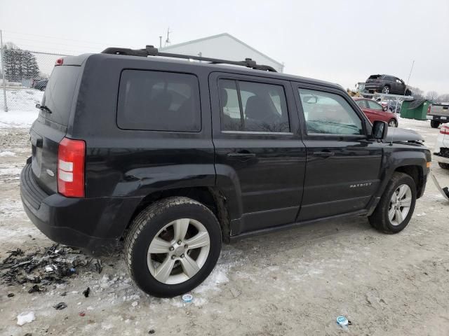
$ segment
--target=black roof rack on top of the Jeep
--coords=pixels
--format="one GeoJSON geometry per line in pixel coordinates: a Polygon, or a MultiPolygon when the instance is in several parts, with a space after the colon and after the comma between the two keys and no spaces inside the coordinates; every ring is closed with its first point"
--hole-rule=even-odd
{"type": "Polygon", "coordinates": [[[197,61],[209,62],[210,64],[232,64],[246,66],[247,68],[277,72],[272,66],[257,64],[253,59],[246,58],[244,61],[228,61],[226,59],[217,59],[193,55],[172,54],[170,52],[159,52],[153,45],[147,45],[145,49],[128,49],[128,48],[106,48],[102,54],[127,55],[127,56],[163,56],[183,59],[196,59],[197,61]]]}

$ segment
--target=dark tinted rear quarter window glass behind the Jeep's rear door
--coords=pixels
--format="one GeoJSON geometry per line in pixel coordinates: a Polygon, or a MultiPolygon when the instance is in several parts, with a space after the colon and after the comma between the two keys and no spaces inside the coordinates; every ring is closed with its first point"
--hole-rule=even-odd
{"type": "Polygon", "coordinates": [[[199,83],[194,75],[124,70],[117,124],[125,130],[199,132],[199,83]]]}

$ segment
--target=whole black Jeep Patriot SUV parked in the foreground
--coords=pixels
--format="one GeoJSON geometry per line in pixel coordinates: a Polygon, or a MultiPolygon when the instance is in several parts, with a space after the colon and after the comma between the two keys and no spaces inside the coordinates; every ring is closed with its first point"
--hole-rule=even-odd
{"type": "Polygon", "coordinates": [[[124,239],[130,276],[160,297],[198,286],[236,237],[342,216],[399,232],[429,174],[417,134],[387,135],[339,85],[251,59],[65,57],[37,107],[27,215],[90,253],[124,239]]]}

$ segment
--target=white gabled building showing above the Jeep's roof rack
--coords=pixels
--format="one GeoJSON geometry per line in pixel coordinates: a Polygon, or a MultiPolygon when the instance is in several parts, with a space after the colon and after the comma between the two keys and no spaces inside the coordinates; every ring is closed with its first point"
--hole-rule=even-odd
{"type": "Polygon", "coordinates": [[[250,45],[240,41],[227,33],[199,38],[197,40],[167,45],[159,48],[161,52],[172,52],[182,55],[195,55],[211,58],[243,61],[246,58],[253,59],[257,64],[274,67],[276,71],[283,72],[283,64],[272,59],[250,45]]]}

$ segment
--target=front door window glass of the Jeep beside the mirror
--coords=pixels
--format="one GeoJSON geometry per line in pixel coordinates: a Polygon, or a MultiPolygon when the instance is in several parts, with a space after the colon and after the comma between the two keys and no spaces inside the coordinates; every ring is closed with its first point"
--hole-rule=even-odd
{"type": "Polygon", "coordinates": [[[307,134],[361,135],[362,120],[340,95],[298,89],[307,134]]]}

